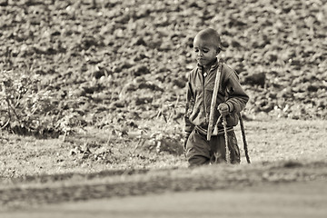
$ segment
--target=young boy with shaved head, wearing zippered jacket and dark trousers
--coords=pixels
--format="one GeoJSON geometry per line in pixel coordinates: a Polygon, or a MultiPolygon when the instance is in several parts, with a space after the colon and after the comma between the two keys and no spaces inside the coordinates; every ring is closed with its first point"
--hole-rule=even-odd
{"type": "Polygon", "coordinates": [[[214,29],[200,31],[194,37],[193,49],[197,66],[188,77],[184,115],[186,134],[184,149],[187,161],[190,166],[226,162],[224,129],[220,119],[218,131],[212,134],[210,141],[207,141],[214,82],[218,70],[221,70],[213,124],[217,123],[221,115],[225,116],[230,160],[231,163],[240,163],[240,150],[233,126],[238,124],[238,113],[245,107],[249,96],[244,93],[238,75],[233,69],[217,59],[222,45],[220,36],[214,29]]]}

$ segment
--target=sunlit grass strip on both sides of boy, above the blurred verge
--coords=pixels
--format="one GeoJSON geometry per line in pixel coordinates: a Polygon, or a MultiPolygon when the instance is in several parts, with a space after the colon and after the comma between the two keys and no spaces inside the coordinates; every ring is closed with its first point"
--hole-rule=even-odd
{"type": "MultiPolygon", "coordinates": [[[[253,163],[282,160],[319,161],[326,159],[327,122],[300,120],[245,121],[249,154],[253,163]]],[[[243,152],[239,127],[235,130],[243,152]]],[[[185,167],[181,152],[157,153],[154,146],[140,143],[139,135],[111,137],[106,130],[56,139],[2,134],[0,172],[5,180],[26,175],[95,173],[110,169],[185,167]],[[129,140],[123,140],[130,138],[129,140]]],[[[181,148],[182,142],[169,144],[181,148]]],[[[177,149],[180,151],[180,149],[177,149]]],[[[242,156],[242,164],[246,160],[242,156]]]]}

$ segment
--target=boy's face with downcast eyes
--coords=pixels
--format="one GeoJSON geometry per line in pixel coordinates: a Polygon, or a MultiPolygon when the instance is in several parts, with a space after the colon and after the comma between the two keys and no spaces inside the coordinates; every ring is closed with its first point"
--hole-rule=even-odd
{"type": "Polygon", "coordinates": [[[217,47],[210,40],[208,42],[197,36],[194,38],[193,48],[196,54],[196,61],[200,65],[211,64],[218,54],[217,47]]]}

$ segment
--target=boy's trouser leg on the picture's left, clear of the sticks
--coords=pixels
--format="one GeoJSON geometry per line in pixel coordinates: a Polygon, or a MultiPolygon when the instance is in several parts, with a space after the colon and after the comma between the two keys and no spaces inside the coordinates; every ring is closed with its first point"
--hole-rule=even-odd
{"type": "Polygon", "coordinates": [[[193,130],[187,139],[186,158],[190,166],[210,163],[210,145],[205,135],[193,130]]]}

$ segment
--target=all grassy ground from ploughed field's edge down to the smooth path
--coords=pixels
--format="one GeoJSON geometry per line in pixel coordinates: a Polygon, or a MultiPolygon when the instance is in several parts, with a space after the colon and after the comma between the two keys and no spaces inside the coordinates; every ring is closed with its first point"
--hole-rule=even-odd
{"type": "MultiPolygon", "coordinates": [[[[243,155],[240,165],[198,169],[187,169],[183,154],[146,150],[151,147],[141,146],[138,140],[119,144],[118,136],[108,140],[104,130],[58,139],[3,133],[0,203],[6,210],[113,196],[327,179],[325,121],[244,123],[252,164],[243,155]]],[[[241,131],[236,129],[236,133],[242,148],[241,131]]]]}

